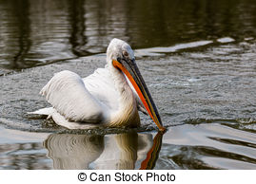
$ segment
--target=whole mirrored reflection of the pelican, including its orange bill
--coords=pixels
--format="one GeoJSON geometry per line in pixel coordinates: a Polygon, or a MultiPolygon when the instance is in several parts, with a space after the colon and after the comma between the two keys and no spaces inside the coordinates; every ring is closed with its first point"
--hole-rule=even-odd
{"type": "Polygon", "coordinates": [[[54,169],[152,169],[163,133],[52,134],[44,141],[54,169]],[[157,139],[157,140],[156,140],[157,139]]]}

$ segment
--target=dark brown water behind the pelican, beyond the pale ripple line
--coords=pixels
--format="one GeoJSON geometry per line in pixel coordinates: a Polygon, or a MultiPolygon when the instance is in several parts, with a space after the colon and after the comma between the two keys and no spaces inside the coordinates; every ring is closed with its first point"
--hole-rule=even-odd
{"type": "Polygon", "coordinates": [[[255,11],[249,0],[1,0],[0,68],[105,52],[113,37],[133,48],[255,37],[255,11]]]}

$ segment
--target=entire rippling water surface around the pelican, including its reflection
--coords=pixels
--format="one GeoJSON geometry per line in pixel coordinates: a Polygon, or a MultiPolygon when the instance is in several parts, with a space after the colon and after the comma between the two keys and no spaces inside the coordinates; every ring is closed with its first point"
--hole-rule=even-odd
{"type": "Polygon", "coordinates": [[[256,169],[256,1],[0,0],[1,169],[256,169]],[[69,131],[26,113],[53,73],[126,40],[167,133],[69,131]]]}

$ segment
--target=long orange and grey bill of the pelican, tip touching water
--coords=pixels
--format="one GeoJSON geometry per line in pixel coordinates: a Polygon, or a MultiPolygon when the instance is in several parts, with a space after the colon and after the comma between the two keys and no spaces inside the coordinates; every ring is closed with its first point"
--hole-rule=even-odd
{"type": "Polygon", "coordinates": [[[114,67],[119,68],[128,77],[128,80],[133,85],[139,98],[143,102],[145,108],[148,111],[148,115],[156,123],[160,131],[165,131],[166,128],[163,126],[160,116],[158,114],[157,108],[151,95],[148,91],[148,87],[142,78],[139,68],[134,60],[118,59],[118,61],[113,60],[112,64],[114,67]]]}

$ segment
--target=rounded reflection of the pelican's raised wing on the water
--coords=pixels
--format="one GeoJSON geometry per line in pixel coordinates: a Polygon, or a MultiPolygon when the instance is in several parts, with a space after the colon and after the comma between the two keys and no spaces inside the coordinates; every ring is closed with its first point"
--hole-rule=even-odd
{"type": "Polygon", "coordinates": [[[52,134],[44,142],[54,169],[88,169],[104,150],[103,136],[52,134]]]}

